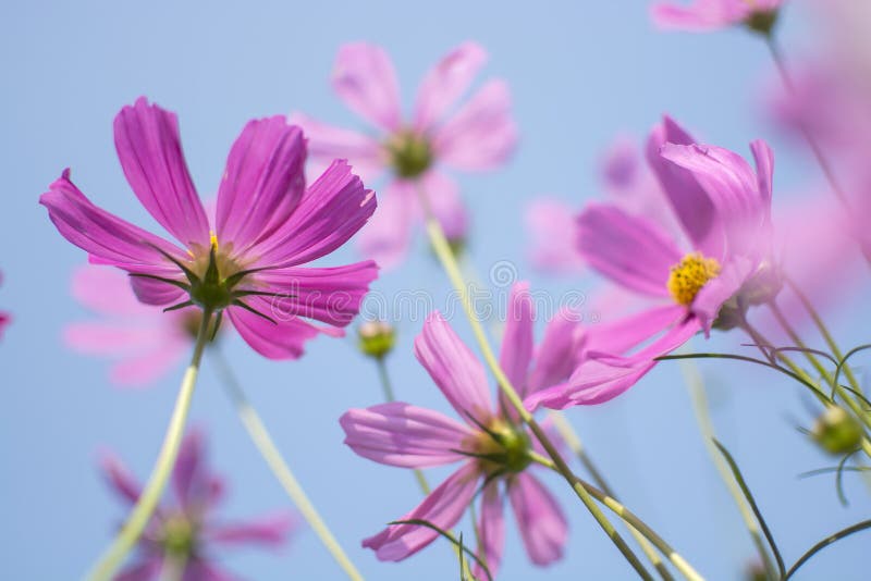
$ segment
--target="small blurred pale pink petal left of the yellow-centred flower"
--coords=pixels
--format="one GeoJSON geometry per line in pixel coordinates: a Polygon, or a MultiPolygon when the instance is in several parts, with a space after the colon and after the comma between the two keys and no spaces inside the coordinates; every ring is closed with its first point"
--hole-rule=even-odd
{"type": "Polygon", "coordinates": [[[575,210],[567,203],[541,198],[526,209],[529,261],[548,274],[577,274],[584,270],[575,238],[575,210]]]}

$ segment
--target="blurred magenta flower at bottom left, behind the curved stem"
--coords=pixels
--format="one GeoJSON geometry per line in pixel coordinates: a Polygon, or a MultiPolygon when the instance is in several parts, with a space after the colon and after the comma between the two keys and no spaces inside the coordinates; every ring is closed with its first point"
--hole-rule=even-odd
{"type": "MultiPolygon", "coordinates": [[[[112,455],[105,455],[101,465],[112,489],[133,506],[140,494],[138,482],[112,455]]],[[[115,580],[165,579],[173,568],[183,567],[179,577],[183,581],[230,581],[237,578],[219,566],[216,555],[242,545],[274,548],[286,541],[295,526],[295,519],[287,514],[238,523],[217,520],[214,510],[223,493],[223,480],[206,465],[203,435],[189,432],[172,472],[174,502],[158,507],[139,539],[133,564],[115,580]]]]}

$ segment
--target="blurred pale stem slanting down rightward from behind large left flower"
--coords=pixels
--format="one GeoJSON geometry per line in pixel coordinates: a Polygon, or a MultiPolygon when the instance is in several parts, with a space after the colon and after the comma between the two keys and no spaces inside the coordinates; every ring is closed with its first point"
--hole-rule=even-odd
{"type": "Polygon", "coordinates": [[[335,536],[333,536],[332,532],[330,532],[327,523],[323,522],[323,519],[318,514],[315,505],[312,505],[311,500],[308,499],[303,486],[296,480],[296,477],[294,477],[293,472],[291,471],[291,467],[287,466],[286,461],[284,461],[281,452],[279,452],[275,443],[269,435],[269,432],[267,431],[263,421],[260,419],[260,416],[257,413],[257,410],[254,409],[247,397],[245,397],[245,392],[243,392],[242,386],[233,373],[233,370],[224,359],[220,347],[216,346],[213,351],[216,354],[214,361],[220,368],[219,374],[223,380],[221,383],[223,384],[226,394],[230,396],[230,399],[232,399],[240,420],[242,420],[243,425],[248,431],[248,435],[254,442],[254,445],[257,446],[257,449],[260,452],[260,455],[266,460],[266,463],[269,466],[270,470],[272,470],[275,479],[278,479],[279,483],[284,489],[284,492],[287,493],[287,496],[290,496],[293,504],[303,515],[303,518],[306,519],[306,522],[308,522],[309,527],[311,527],[311,530],[315,531],[315,534],[318,535],[320,542],[324,547],[327,547],[327,551],[330,552],[330,555],[333,557],[339,567],[342,568],[348,579],[354,581],[363,581],[363,576],[342,549],[342,546],[335,540],[335,536]]]}

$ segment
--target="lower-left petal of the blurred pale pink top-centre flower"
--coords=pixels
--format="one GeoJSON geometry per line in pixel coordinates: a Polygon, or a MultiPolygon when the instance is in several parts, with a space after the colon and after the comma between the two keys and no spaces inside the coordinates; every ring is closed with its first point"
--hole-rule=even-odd
{"type": "Polygon", "coordinates": [[[379,194],[378,211],[360,232],[360,252],[382,269],[396,267],[408,252],[412,225],[420,218],[414,187],[404,180],[390,182],[379,194]]]}

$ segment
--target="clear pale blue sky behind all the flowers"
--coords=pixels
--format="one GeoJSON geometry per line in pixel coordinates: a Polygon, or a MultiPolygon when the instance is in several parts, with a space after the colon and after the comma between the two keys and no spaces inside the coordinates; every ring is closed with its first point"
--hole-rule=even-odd
{"type": "MultiPolygon", "coordinates": [[[[471,257],[482,273],[512,261],[535,288],[555,295],[589,289],[591,282],[531,270],[519,235],[526,205],[549,194],[579,207],[600,195],[596,166],[602,149],[617,134],[642,136],[663,112],[741,153],[752,138],[770,138],[781,199],[819,180],[800,149],[778,139],[760,118],[761,84],[772,74],[763,46],[738,30],[658,33],[641,0],[216,4],[25,2],[0,9],[0,307],[15,317],[0,344],[0,547],[10,579],[69,579],[85,571],[123,516],[95,469],[97,452],[115,450],[145,478],[181,378],[177,369],[150,388],[121,391],[109,385],[105,361],[64,348],[63,325],[87,317],[69,294],[70,275],[84,255],[57,234],[37,203],[70,166],[95,202],[155,225],[124,182],[112,145],[112,118],[139,95],[179,113],[194,181],[207,195],[216,190],[230,145],[248,119],[298,110],[358,126],[328,84],[342,42],[384,46],[410,98],[436,59],[475,39],[490,52],[487,74],[512,87],[522,141],[503,171],[459,178],[474,215],[471,257]]],[[[787,50],[807,46],[809,27],[799,10],[787,12],[787,50]]],[[[331,262],[353,258],[348,248],[331,262]]],[[[422,245],[375,288],[388,296],[427,289],[436,304],[449,292],[422,245]]],[[[844,312],[834,317],[837,329],[858,342],[859,322],[844,312]]],[[[389,361],[396,391],[402,399],[446,409],[410,354],[420,323],[400,323],[400,344],[389,361]]],[[[455,318],[455,325],[469,337],[464,321],[455,318]]],[[[338,417],[380,397],[375,368],[356,355],[353,341],[320,338],[305,358],[282,363],[259,358],[235,337],[226,349],[303,484],[367,577],[455,574],[444,546],[401,565],[378,563],[359,547],[360,539],[412,508],[419,494],[410,474],[363,460],[342,444],[338,417]]],[[[847,480],[854,503],[845,509],[831,479],[796,478],[833,462],[795,431],[810,417],[794,385],[738,364],[704,371],[721,437],[787,560],[867,515],[871,503],[858,479],[847,480]]],[[[706,456],[676,366],[661,366],[617,400],[569,410],[568,417],[627,505],[710,578],[740,577],[752,548],[706,456]]],[[[208,357],[192,422],[208,431],[211,459],[228,474],[229,517],[286,506],[208,357]]],[[[432,480],[441,475],[437,470],[432,480]]],[[[567,557],[549,571],[535,569],[510,523],[502,578],[630,579],[566,487],[556,478],[548,483],[569,515],[567,557]]],[[[823,553],[799,578],[838,571],[839,579],[859,579],[862,542],[855,537],[823,553]]],[[[225,563],[249,579],[340,579],[306,530],[280,554],[243,551],[226,555],[225,563]]]]}

